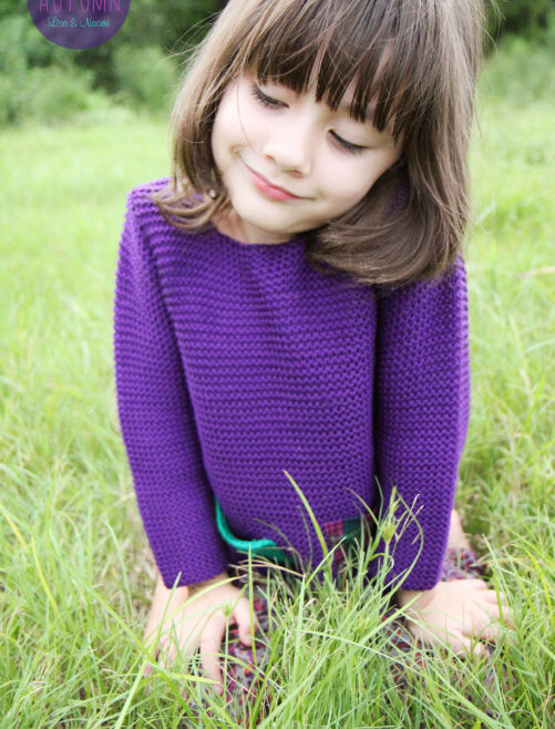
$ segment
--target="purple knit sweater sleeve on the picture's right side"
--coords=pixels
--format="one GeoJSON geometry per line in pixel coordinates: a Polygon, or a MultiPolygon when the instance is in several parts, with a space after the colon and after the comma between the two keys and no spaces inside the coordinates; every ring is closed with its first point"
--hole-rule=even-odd
{"type": "Polygon", "coordinates": [[[430,589],[440,577],[469,423],[463,259],[440,279],[404,286],[381,297],[378,306],[376,471],[384,507],[395,486],[404,502],[395,518],[409,506],[421,527],[411,518],[397,521],[388,579],[404,575],[415,561],[402,586],[430,589]]]}

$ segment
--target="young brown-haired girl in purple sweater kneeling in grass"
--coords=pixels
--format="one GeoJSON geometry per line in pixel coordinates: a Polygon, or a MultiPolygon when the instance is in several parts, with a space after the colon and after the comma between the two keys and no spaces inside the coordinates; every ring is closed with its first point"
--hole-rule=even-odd
{"type": "Polygon", "coordinates": [[[330,546],[397,494],[414,637],[484,651],[508,618],[467,553],[453,567],[480,29],[479,0],[230,0],[176,99],[172,178],[129,195],[114,352],[160,569],[145,638],[168,663],[199,647],[219,692],[226,623],[244,646],[257,627],[230,565],[323,556],[292,482],[330,546]]]}

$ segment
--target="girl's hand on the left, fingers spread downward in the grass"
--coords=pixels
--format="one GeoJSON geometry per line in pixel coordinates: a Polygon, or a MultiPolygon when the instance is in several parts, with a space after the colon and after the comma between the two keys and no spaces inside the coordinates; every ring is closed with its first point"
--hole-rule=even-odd
{"type": "MultiPolygon", "coordinates": [[[[222,573],[198,585],[177,587],[171,598],[172,591],[164,585],[158,574],[143,635],[143,641],[152,648],[153,656],[161,658],[165,666],[173,661],[178,649],[192,656],[201,647],[204,675],[217,681],[214,690],[220,695],[224,687],[216,654],[220,651],[226,623],[236,623],[241,643],[251,645],[248,599],[241,597],[243,591],[229,582],[220,584],[228,578],[227,573],[222,573]],[[156,644],[154,641],[163,619],[160,641],[156,644]]],[[[256,630],[256,616],[254,618],[256,630]]],[[[153,666],[147,665],[144,672],[148,675],[152,670],[153,666]]]]}

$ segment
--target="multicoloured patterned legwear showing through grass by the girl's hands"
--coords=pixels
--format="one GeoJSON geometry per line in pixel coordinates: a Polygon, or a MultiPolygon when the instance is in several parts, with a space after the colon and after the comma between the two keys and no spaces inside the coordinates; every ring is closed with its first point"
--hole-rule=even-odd
{"type": "MultiPolygon", "coordinates": [[[[485,567],[477,564],[474,552],[461,547],[448,548],[443,559],[442,582],[482,578],[484,574],[485,567]]],[[[245,574],[238,573],[237,579],[238,585],[248,585],[248,577],[245,574]]],[[[256,613],[259,628],[255,635],[254,645],[251,647],[244,645],[239,640],[238,628],[230,626],[228,637],[222,646],[225,659],[220,661],[220,667],[224,672],[226,710],[239,726],[248,726],[249,708],[253,707],[257,699],[258,689],[263,682],[269,658],[268,635],[271,630],[271,618],[268,613],[266,595],[261,589],[261,585],[257,584],[257,582],[254,582],[253,608],[256,613]]],[[[417,664],[423,665],[428,654],[425,648],[419,645],[403,622],[398,619],[391,620],[388,619],[389,617],[390,613],[386,613],[382,622],[384,624],[383,629],[388,635],[388,653],[392,658],[391,672],[395,686],[400,690],[403,690],[409,682],[403,655],[411,653],[413,660],[415,659],[417,664]]],[[[493,653],[493,646],[487,645],[487,647],[490,653],[493,653]]],[[[492,664],[487,675],[492,686],[495,680],[495,671],[496,668],[492,664]]],[[[505,686],[508,686],[506,671],[505,686]]],[[[203,687],[204,692],[210,690],[203,687]]],[[[267,697],[264,697],[263,701],[259,702],[261,705],[258,712],[260,720],[264,717],[265,701],[267,700],[267,697]]],[[[203,706],[207,710],[207,702],[205,700],[203,701],[203,706]]],[[[196,715],[199,708],[191,697],[188,707],[194,715],[196,715]]],[[[209,711],[208,713],[210,715],[209,711]]],[[[203,726],[202,719],[198,717],[188,718],[182,723],[182,727],[194,726],[203,726]]]]}

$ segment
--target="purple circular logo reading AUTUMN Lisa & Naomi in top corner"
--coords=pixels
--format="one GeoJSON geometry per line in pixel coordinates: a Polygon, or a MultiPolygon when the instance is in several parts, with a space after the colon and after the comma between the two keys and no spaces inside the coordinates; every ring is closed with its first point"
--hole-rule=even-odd
{"type": "Polygon", "coordinates": [[[64,48],[102,45],[123,25],[131,0],[28,0],[31,20],[49,41],[64,48]]]}

